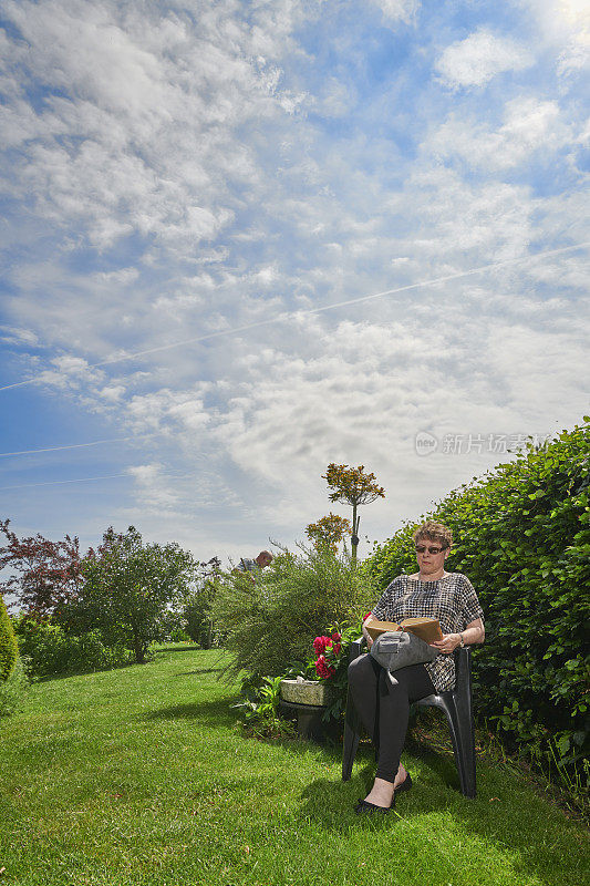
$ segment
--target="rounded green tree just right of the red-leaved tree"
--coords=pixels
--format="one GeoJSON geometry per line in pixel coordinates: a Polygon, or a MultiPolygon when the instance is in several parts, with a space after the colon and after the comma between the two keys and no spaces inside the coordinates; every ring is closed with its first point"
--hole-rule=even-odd
{"type": "Polygon", "coordinates": [[[188,595],[195,562],[175,543],[144,546],[134,526],[125,535],[111,527],[97,552],[85,557],[82,571],[85,580],[72,624],[77,631],[84,622],[99,628],[106,642],[123,642],[143,662],[166,612],[188,595]]]}

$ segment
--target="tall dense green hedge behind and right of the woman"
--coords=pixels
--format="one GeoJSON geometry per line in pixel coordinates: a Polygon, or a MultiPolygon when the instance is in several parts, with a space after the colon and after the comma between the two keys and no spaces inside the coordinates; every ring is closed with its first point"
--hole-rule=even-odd
{"type": "Polygon", "coordinates": [[[562,767],[589,750],[589,421],[452,492],[364,564],[383,589],[415,570],[416,525],[453,529],[446,568],[470,578],[485,612],[476,711],[522,754],[557,754],[562,767]]]}

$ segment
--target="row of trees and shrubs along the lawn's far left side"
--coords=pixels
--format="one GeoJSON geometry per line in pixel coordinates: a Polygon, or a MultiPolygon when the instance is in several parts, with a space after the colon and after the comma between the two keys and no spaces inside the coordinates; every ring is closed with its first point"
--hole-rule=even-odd
{"type": "Polygon", "coordinates": [[[12,627],[34,673],[143,662],[158,640],[211,643],[217,557],[199,562],[176,543],[146,544],[134,526],[108,527],[84,555],[77,537],[19,538],[9,519],[0,535],[8,574],[0,593],[17,599],[12,627]]]}

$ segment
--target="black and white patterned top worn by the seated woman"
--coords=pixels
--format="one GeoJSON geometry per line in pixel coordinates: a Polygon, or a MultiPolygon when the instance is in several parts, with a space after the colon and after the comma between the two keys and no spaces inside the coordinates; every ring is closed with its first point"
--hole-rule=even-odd
{"type": "MultiPolygon", "coordinates": [[[[448,573],[434,581],[398,575],[387,585],[372,615],[380,621],[396,622],[404,618],[437,618],[443,633],[459,633],[476,618],[484,619],[474,586],[462,573],[448,573]]],[[[441,652],[424,667],[437,692],[453,689],[455,660],[452,655],[441,652]]]]}

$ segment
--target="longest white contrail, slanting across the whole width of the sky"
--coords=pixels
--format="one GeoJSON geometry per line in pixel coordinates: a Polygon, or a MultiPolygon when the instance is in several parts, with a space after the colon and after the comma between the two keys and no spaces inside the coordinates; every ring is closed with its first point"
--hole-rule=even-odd
{"type": "MultiPolygon", "coordinates": [[[[360,305],[363,301],[371,301],[376,298],[383,298],[384,296],[394,296],[397,292],[407,292],[411,289],[420,289],[424,286],[436,286],[438,284],[448,282],[449,280],[459,280],[463,277],[470,277],[475,274],[483,274],[486,270],[491,270],[494,268],[501,268],[509,265],[517,265],[524,261],[535,261],[538,258],[547,258],[548,256],[557,256],[562,255],[563,253],[571,253],[575,249],[586,249],[590,246],[590,241],[587,243],[578,243],[573,246],[561,246],[558,249],[546,249],[541,253],[536,253],[535,255],[529,256],[520,256],[519,258],[506,258],[501,261],[493,261],[489,265],[480,265],[477,268],[470,268],[469,270],[462,270],[457,271],[456,274],[445,274],[442,277],[435,277],[428,280],[421,280],[417,284],[408,284],[407,286],[398,286],[395,289],[385,289],[383,292],[373,292],[369,296],[361,296],[360,298],[350,298],[345,299],[344,301],[335,301],[331,305],[324,305],[321,308],[308,308],[307,310],[300,311],[284,311],[282,313],[277,315],[276,317],[270,317],[266,320],[258,320],[255,323],[248,323],[246,326],[232,327],[231,329],[222,329],[219,332],[209,332],[206,336],[198,336],[192,339],[184,339],[183,341],[175,341],[170,344],[161,344],[156,348],[147,348],[143,351],[135,351],[134,353],[126,353],[122,354],[121,357],[113,357],[108,360],[101,360],[99,363],[89,363],[86,369],[96,369],[97,367],[106,367],[112,365],[113,363],[121,363],[124,360],[133,360],[137,357],[146,357],[147,354],[152,353],[162,353],[163,351],[170,351],[174,348],[183,348],[186,344],[197,344],[200,341],[210,341],[211,339],[221,338],[224,336],[232,336],[238,332],[247,332],[250,329],[258,329],[263,326],[271,326],[272,323],[280,323],[284,320],[296,319],[298,317],[306,317],[308,315],[313,313],[324,313],[325,311],[334,310],[334,308],[345,308],[349,305],[360,305]]],[[[20,388],[23,384],[32,384],[34,382],[41,381],[42,377],[37,375],[32,379],[27,379],[25,381],[19,381],[14,384],[7,384],[3,388],[0,388],[0,391],[9,391],[12,388],[20,388]]]]}

